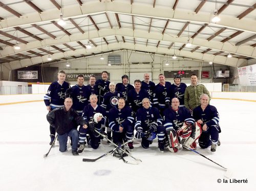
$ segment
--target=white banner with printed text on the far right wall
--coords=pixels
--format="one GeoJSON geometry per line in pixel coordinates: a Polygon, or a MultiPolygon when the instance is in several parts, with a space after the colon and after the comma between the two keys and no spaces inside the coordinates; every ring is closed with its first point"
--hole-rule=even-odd
{"type": "Polygon", "coordinates": [[[241,85],[256,86],[256,64],[238,68],[241,85]]]}

